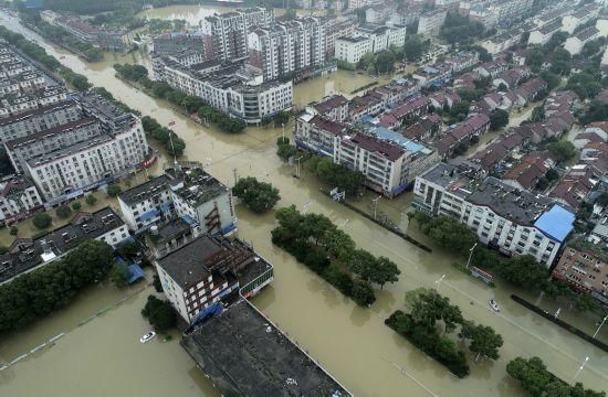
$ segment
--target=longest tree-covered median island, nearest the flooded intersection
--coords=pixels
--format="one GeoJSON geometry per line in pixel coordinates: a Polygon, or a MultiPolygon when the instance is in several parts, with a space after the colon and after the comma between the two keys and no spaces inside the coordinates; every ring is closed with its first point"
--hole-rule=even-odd
{"type": "Polygon", "coordinates": [[[276,212],[279,226],[272,243],[292,254],[300,262],[323,277],[357,304],[376,300],[371,283],[382,288],[396,282],[400,270],[386,257],[376,258],[345,232],[321,214],[301,214],[294,205],[276,212]]]}

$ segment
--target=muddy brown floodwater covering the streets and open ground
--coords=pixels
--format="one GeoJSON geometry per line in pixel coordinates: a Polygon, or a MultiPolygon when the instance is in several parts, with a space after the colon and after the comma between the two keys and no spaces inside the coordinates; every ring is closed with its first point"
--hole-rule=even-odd
{"type": "MultiPolygon", "coordinates": [[[[159,10],[154,10],[159,11],[159,10]]],[[[18,25],[14,19],[0,15],[1,23],[36,41],[42,41],[18,25]]],[[[281,129],[248,128],[242,135],[227,135],[214,128],[201,128],[172,110],[164,100],[156,100],[129,87],[114,76],[116,62],[143,64],[141,55],[124,60],[106,60],[86,64],[76,56],[49,44],[41,43],[61,62],[84,74],[91,83],[103,86],[117,99],[138,109],[143,115],[171,127],[187,142],[185,158],[198,160],[216,178],[232,185],[234,175],[253,175],[272,182],[281,191],[277,206],[295,204],[302,210],[308,201],[311,212],[323,213],[343,225],[358,247],[375,255],[384,255],[398,264],[399,282],[377,291],[378,300],[370,309],[356,307],[316,275],[297,264],[292,256],[274,247],[270,230],[274,215],[254,215],[238,207],[239,236],[274,264],[275,280],[253,303],[277,325],[298,341],[310,354],[356,396],[501,396],[522,395],[521,389],[506,375],[506,363],[518,356],[538,355],[548,368],[560,378],[573,382],[580,363],[589,361],[577,380],[587,387],[608,389],[608,355],[573,334],[531,313],[510,299],[513,291],[505,286],[492,289],[451,267],[454,258],[441,249],[432,254],[422,251],[400,237],[388,233],[343,205],[332,202],[321,191],[313,175],[306,173],[294,179],[293,168],[275,154],[275,140],[281,129]],[[346,222],[347,221],[347,222],[346,222]],[[491,325],[502,334],[504,346],[496,362],[470,360],[471,375],[458,379],[430,360],[418,348],[384,325],[384,320],[396,309],[403,308],[406,291],[434,288],[436,280],[445,275],[439,292],[459,304],[463,315],[475,322],[491,325]],[[502,312],[488,308],[496,299],[502,312]]],[[[294,88],[296,106],[318,99],[333,90],[345,94],[371,81],[370,77],[338,72],[326,77],[305,82],[294,88]]],[[[291,132],[290,132],[291,135],[291,132]]],[[[167,161],[161,157],[160,161],[167,161]]],[[[410,194],[410,193],[408,193],[410,194]]],[[[396,201],[381,200],[391,215],[407,211],[408,194],[396,201]],[[384,203],[386,202],[386,203],[384,203]]],[[[365,205],[365,204],[363,204],[365,205]]],[[[406,221],[407,223],[407,217],[406,221]]],[[[410,227],[415,238],[418,227],[410,227]]],[[[429,244],[432,247],[432,244],[429,244]]],[[[122,305],[112,309],[85,325],[77,326],[111,302],[129,291],[117,291],[111,286],[94,287],[62,312],[41,320],[19,335],[0,341],[0,361],[7,362],[57,334],[66,332],[48,352],[36,353],[0,373],[1,396],[216,396],[202,372],[178,345],[177,339],[168,343],[156,340],[140,344],[138,337],[149,325],[140,309],[151,289],[136,294],[122,305]]],[[[593,321],[566,309],[565,319],[587,332],[594,332],[593,321]]],[[[608,341],[608,326],[598,335],[608,341]]]]}

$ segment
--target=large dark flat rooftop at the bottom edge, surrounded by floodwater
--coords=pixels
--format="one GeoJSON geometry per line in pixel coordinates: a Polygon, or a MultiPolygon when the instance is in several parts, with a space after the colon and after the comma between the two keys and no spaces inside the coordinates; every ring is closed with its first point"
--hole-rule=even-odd
{"type": "Polygon", "coordinates": [[[223,396],[350,396],[244,299],[181,346],[223,396]]]}

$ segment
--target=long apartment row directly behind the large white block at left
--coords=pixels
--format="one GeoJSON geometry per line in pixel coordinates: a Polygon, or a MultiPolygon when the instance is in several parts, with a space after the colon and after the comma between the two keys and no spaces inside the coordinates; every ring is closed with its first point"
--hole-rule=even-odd
{"type": "Polygon", "coordinates": [[[27,137],[7,141],[4,148],[14,170],[18,173],[24,173],[28,160],[67,148],[72,144],[92,140],[102,133],[102,124],[95,118],[85,117],[27,137]]]}

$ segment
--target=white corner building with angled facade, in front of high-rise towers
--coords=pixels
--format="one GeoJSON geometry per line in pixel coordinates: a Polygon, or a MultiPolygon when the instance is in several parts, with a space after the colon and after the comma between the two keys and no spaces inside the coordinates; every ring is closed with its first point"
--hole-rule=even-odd
{"type": "Polygon", "coordinates": [[[157,66],[155,75],[248,124],[260,124],[262,118],[292,107],[291,81],[264,83],[262,72],[253,66],[214,64],[201,72],[198,65],[186,68],[177,63],[164,63],[157,66]]]}

